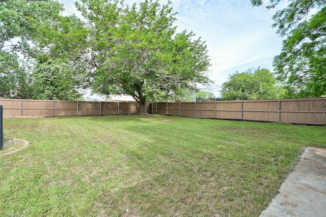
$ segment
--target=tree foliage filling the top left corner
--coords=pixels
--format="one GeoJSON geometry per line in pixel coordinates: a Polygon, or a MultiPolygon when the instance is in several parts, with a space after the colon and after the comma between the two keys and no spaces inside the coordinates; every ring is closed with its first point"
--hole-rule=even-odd
{"type": "Polygon", "coordinates": [[[59,15],[63,7],[52,0],[4,0],[0,3],[0,50],[5,42],[11,42],[14,51],[28,56],[30,44],[38,36],[35,25],[42,25],[59,15]],[[17,43],[13,43],[13,39],[17,43]],[[30,43],[29,43],[30,42],[30,43]]]}

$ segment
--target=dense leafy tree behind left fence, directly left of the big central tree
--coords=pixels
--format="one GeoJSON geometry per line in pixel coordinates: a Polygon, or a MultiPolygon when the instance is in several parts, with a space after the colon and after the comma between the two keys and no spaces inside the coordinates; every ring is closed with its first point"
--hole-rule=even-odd
{"type": "Polygon", "coordinates": [[[82,86],[87,61],[88,29],[75,15],[58,16],[35,25],[39,35],[35,40],[35,67],[32,78],[33,99],[76,100],[82,86]]]}

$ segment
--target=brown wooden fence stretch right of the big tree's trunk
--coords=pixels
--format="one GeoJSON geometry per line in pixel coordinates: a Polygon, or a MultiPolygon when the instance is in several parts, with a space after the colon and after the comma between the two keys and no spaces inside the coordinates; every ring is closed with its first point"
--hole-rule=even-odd
{"type": "Polygon", "coordinates": [[[326,99],[152,103],[152,114],[326,125],[326,99]]]}

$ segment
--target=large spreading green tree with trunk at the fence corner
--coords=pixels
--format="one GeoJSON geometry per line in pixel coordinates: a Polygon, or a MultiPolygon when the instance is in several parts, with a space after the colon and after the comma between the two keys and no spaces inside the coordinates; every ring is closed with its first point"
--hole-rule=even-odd
{"type": "Polygon", "coordinates": [[[98,94],[130,95],[144,115],[152,99],[210,82],[205,42],[194,40],[192,32],[176,33],[171,2],[80,2],[76,6],[92,29],[88,75],[98,94]]]}

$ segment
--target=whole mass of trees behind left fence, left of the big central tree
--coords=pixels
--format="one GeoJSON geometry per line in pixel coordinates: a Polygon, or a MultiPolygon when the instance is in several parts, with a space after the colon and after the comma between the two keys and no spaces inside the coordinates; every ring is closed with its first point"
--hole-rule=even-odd
{"type": "Polygon", "coordinates": [[[0,2],[1,97],[78,98],[76,81],[82,79],[76,72],[84,67],[88,29],[63,10],[54,0],[0,2]]]}

